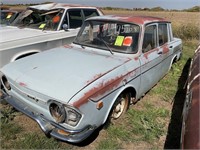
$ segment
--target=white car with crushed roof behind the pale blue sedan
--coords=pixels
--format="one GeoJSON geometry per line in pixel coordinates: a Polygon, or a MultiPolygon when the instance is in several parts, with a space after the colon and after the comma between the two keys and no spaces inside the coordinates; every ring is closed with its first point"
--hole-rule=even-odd
{"type": "Polygon", "coordinates": [[[71,43],[83,21],[98,15],[103,15],[100,9],[81,5],[49,3],[27,7],[12,24],[0,27],[0,68],[22,57],[71,43]]]}

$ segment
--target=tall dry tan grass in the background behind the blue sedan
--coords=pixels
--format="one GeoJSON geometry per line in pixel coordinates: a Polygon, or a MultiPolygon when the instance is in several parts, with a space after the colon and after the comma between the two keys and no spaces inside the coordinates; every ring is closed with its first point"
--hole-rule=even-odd
{"type": "Polygon", "coordinates": [[[175,37],[183,40],[199,40],[200,37],[200,13],[199,12],[152,12],[152,11],[128,11],[128,10],[104,10],[107,14],[132,15],[132,16],[154,16],[165,18],[172,22],[175,37]]]}

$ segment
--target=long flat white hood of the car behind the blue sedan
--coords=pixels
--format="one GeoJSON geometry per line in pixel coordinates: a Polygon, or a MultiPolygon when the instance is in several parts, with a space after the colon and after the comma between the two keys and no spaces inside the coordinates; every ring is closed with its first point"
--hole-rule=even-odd
{"type": "Polygon", "coordinates": [[[0,27],[0,35],[3,35],[0,36],[0,51],[54,40],[75,38],[78,30],[78,28],[70,29],[66,32],[64,30],[42,31],[30,28],[20,29],[13,26],[0,27]]]}

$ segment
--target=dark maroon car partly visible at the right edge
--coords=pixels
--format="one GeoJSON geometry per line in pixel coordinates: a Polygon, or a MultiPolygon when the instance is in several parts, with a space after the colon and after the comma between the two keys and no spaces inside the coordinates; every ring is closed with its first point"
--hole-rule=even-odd
{"type": "Polygon", "coordinates": [[[200,46],[191,61],[183,108],[181,149],[200,149],[200,46]]]}

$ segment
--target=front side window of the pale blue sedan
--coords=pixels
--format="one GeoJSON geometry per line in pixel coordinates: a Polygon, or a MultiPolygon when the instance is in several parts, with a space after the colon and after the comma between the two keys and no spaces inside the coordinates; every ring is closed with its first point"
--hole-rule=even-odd
{"type": "Polygon", "coordinates": [[[156,25],[150,25],[145,28],[143,45],[142,45],[142,52],[148,52],[151,49],[157,47],[157,34],[156,34],[156,25]]]}

